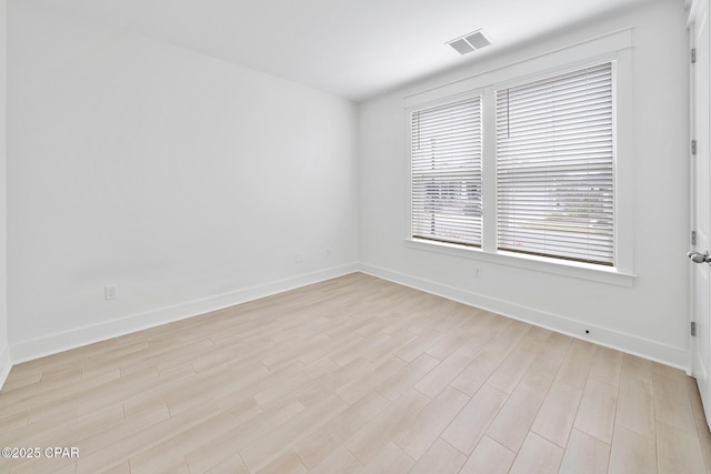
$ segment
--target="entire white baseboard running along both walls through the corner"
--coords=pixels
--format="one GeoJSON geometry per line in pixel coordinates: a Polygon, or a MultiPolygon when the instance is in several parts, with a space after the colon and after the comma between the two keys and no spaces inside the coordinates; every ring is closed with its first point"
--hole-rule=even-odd
{"type": "Polygon", "coordinates": [[[0,387],[10,373],[13,363],[31,361],[136,331],[197,316],[357,271],[550,329],[572,337],[639,355],[651,361],[681,369],[689,374],[691,373],[691,367],[689,366],[690,354],[689,351],[684,349],[673,347],[632,334],[582,323],[565,316],[547,313],[375,265],[351,263],[12,344],[11,347],[7,347],[0,353],[0,387]],[[584,336],[585,329],[590,330],[590,336],[584,336]],[[10,352],[12,353],[12,357],[10,357],[10,352]]]}

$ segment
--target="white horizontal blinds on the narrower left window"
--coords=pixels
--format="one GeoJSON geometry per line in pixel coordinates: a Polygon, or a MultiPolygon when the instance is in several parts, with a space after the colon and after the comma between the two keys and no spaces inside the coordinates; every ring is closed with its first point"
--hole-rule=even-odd
{"type": "Polygon", "coordinates": [[[481,98],[411,118],[412,236],[481,245],[481,98]]]}

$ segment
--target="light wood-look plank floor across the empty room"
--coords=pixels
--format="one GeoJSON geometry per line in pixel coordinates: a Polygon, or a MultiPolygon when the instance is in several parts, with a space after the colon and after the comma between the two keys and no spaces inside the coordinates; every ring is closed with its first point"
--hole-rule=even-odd
{"type": "Polygon", "coordinates": [[[356,273],[12,369],[13,473],[703,473],[681,371],[356,273]]]}

